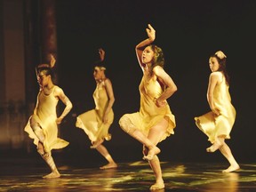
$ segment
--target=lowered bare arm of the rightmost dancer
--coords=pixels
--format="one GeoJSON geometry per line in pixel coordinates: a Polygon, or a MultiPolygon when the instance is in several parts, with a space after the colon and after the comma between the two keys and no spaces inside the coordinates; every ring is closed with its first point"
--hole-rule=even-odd
{"type": "Polygon", "coordinates": [[[211,108],[212,112],[216,115],[219,115],[219,111],[217,108],[215,108],[213,103],[213,91],[215,86],[218,84],[218,79],[219,79],[218,73],[213,72],[209,77],[209,84],[207,89],[207,101],[208,101],[209,107],[211,108]]]}

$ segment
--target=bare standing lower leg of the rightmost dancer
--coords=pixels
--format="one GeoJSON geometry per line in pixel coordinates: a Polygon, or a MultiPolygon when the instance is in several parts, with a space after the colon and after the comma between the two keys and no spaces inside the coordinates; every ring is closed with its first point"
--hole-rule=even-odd
{"type": "Polygon", "coordinates": [[[220,152],[228,159],[228,162],[230,164],[228,169],[223,170],[222,172],[235,172],[236,170],[240,169],[239,164],[237,164],[236,159],[232,155],[232,152],[225,141],[224,144],[220,147],[220,152]]]}

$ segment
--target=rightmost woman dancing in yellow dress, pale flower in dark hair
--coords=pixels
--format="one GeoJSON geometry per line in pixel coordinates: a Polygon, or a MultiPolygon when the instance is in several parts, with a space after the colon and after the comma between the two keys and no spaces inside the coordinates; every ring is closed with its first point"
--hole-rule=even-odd
{"type": "Polygon", "coordinates": [[[235,123],[236,109],[231,104],[229,94],[229,77],[226,70],[226,55],[219,51],[215,52],[210,59],[209,65],[212,71],[209,77],[207,100],[212,111],[203,116],[196,116],[197,127],[208,136],[212,143],[207,152],[213,153],[217,149],[228,159],[230,166],[222,172],[234,172],[240,167],[236,163],[225,140],[230,139],[230,132],[235,123]]]}

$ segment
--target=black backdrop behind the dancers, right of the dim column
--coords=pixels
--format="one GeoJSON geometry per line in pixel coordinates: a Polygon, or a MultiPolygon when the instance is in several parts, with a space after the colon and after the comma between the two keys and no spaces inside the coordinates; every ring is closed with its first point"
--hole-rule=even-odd
{"type": "Polygon", "coordinates": [[[237,112],[227,143],[238,163],[255,161],[256,1],[57,0],[56,8],[58,84],[74,104],[61,126],[61,137],[70,142],[64,154],[101,159],[75,123],[76,115],[94,108],[92,63],[103,47],[116,97],[115,121],[109,130],[113,139],[104,144],[116,162],[141,160],[141,144],[120,129],[118,120],[140,108],[142,72],[134,48],[147,38],[150,23],[156,29],[155,44],[164,51],[164,68],[178,86],[168,99],[177,127],[159,144],[160,160],[226,161],[219,151],[205,152],[211,143],[194,121],[194,116],[209,111],[208,59],[221,50],[228,56],[230,94],[237,112]]]}

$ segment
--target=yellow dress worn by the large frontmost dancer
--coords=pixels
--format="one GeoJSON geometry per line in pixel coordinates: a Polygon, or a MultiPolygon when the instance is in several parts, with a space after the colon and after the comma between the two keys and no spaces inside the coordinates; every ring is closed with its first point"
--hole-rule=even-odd
{"type": "Polygon", "coordinates": [[[156,106],[155,100],[163,93],[161,85],[157,80],[144,75],[140,81],[140,111],[132,114],[125,114],[129,118],[129,124],[143,132],[148,136],[149,130],[156,124],[158,124],[163,118],[168,121],[168,127],[165,134],[159,140],[165,140],[166,137],[174,134],[173,129],[176,127],[175,116],[172,115],[172,111],[166,101],[166,105],[163,108],[156,106]]]}

